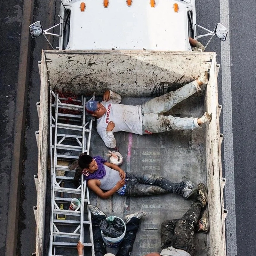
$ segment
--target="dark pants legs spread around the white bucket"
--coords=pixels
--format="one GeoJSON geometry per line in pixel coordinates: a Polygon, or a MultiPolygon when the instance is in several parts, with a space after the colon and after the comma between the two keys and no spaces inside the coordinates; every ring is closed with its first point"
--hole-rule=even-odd
{"type": "MultiPolygon", "coordinates": [[[[103,256],[107,253],[99,227],[100,221],[105,218],[106,216],[104,215],[92,215],[92,232],[95,256],[103,256]]],[[[131,220],[126,224],[126,233],[124,236],[124,240],[120,244],[120,248],[116,256],[128,256],[131,254],[133,243],[139,229],[139,223],[140,219],[131,218],[131,220]]]]}

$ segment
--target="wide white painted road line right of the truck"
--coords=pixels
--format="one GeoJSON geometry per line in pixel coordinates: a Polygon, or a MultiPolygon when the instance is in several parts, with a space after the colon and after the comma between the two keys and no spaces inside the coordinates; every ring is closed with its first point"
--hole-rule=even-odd
{"type": "MultiPolygon", "coordinates": [[[[220,0],[220,22],[229,31],[228,0],[220,0]]],[[[225,208],[228,210],[226,218],[226,245],[227,256],[236,256],[236,204],[230,66],[232,66],[232,63],[230,61],[230,41],[228,33],[226,41],[221,43],[224,163],[225,178],[227,180],[225,186],[225,208]]]]}

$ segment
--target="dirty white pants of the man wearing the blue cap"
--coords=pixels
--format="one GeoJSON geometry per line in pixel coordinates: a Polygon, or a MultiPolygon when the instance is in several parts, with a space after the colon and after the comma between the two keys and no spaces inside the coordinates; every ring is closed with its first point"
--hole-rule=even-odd
{"type": "Polygon", "coordinates": [[[166,132],[173,129],[185,130],[200,128],[197,124],[197,119],[194,117],[174,117],[159,115],[179,103],[182,100],[187,99],[189,96],[200,90],[196,81],[186,84],[174,92],[166,93],[162,96],[148,100],[141,105],[142,109],[142,125],[143,133],[157,133],[166,132]],[[146,132],[145,132],[146,131],[146,132]]]}

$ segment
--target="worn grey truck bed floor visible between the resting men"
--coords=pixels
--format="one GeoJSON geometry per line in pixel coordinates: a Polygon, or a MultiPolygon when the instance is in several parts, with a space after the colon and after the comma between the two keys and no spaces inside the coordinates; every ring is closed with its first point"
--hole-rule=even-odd
{"type": "MultiPolygon", "coordinates": [[[[141,104],[147,99],[127,98],[124,104],[141,104]]],[[[190,97],[172,109],[177,116],[202,116],[203,99],[190,97]]],[[[206,183],[206,153],[204,128],[193,131],[171,131],[152,135],[136,135],[126,132],[115,133],[119,152],[124,157],[121,168],[127,172],[156,173],[173,182],[191,180],[195,184],[206,183]]],[[[91,155],[100,155],[108,160],[108,148],[104,145],[93,124],[91,155]]],[[[180,218],[190,207],[191,200],[176,194],[145,197],[114,195],[101,199],[91,192],[91,203],[97,205],[107,216],[124,217],[138,211],[147,212],[133,246],[133,256],[149,252],[161,252],[160,225],[164,220],[180,218]]],[[[196,235],[196,256],[208,255],[207,235],[196,235]]],[[[115,252],[108,248],[108,252],[115,252]]]]}

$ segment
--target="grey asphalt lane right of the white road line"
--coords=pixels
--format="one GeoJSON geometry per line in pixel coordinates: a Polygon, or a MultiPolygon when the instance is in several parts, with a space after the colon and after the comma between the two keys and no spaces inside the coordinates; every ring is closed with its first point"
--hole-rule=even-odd
{"type": "Polygon", "coordinates": [[[255,2],[232,1],[231,84],[237,255],[255,255],[255,2]]]}

